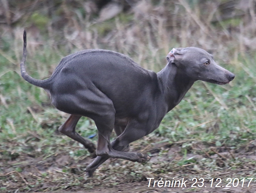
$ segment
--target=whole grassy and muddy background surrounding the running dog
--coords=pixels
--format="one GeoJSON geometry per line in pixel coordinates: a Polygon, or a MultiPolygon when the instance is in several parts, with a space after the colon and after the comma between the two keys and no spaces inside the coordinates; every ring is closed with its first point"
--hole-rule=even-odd
{"type": "MultiPolygon", "coordinates": [[[[133,192],[148,190],[149,177],[255,177],[255,35],[254,0],[1,0],[0,192],[133,192]],[[91,48],[124,53],[157,72],[173,47],[203,48],[236,78],[223,86],[196,82],[159,129],[132,143],[131,151],[151,156],[148,163],[110,159],[87,178],[90,154],[56,132],[68,114],[20,76],[24,28],[27,71],[37,79],[49,77],[64,56],[91,48]]],[[[77,131],[97,134],[88,118],[77,131]]],[[[227,190],[250,192],[251,184],[227,190]]]]}

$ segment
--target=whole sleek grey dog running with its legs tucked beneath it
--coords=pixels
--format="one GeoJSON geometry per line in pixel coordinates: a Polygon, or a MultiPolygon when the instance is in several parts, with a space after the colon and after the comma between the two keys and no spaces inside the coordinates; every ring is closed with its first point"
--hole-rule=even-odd
{"type": "Polygon", "coordinates": [[[147,161],[147,155],[127,152],[129,143],[157,129],[195,81],[224,85],[235,78],[208,52],[187,47],[173,48],[167,65],[158,73],[143,69],[123,54],[96,49],[66,56],[49,79],[36,80],[25,70],[25,30],[23,37],[22,77],[44,88],[57,109],[71,114],[59,132],[93,153],[94,144],[75,132],[75,126],[81,116],[93,119],[97,126],[97,157],[86,168],[89,176],[109,157],[147,161]],[[110,143],[113,129],[118,137],[110,143]]]}

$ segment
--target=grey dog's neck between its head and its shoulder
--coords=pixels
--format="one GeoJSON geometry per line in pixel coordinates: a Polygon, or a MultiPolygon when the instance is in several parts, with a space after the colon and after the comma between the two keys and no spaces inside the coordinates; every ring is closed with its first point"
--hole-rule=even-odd
{"type": "Polygon", "coordinates": [[[157,73],[159,85],[168,105],[168,112],[179,104],[187,91],[194,84],[184,71],[175,64],[168,63],[157,73]]]}

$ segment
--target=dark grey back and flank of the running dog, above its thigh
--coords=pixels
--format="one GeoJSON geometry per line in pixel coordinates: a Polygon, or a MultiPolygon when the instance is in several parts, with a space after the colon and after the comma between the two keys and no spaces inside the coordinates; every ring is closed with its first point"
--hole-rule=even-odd
{"type": "Polygon", "coordinates": [[[84,50],[66,56],[50,79],[53,100],[62,93],[77,96],[82,90],[98,89],[113,101],[117,114],[123,109],[127,113],[138,112],[142,107],[131,104],[150,102],[152,96],[160,94],[155,72],[141,68],[123,54],[107,50],[84,50]]]}

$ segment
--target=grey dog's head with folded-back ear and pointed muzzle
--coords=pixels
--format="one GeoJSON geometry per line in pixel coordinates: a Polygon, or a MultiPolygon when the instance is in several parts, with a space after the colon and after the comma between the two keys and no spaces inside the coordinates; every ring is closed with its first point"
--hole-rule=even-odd
{"type": "Polygon", "coordinates": [[[193,80],[224,85],[235,78],[235,74],[220,67],[214,62],[213,56],[196,47],[173,48],[167,55],[170,65],[177,68],[193,80]]]}

